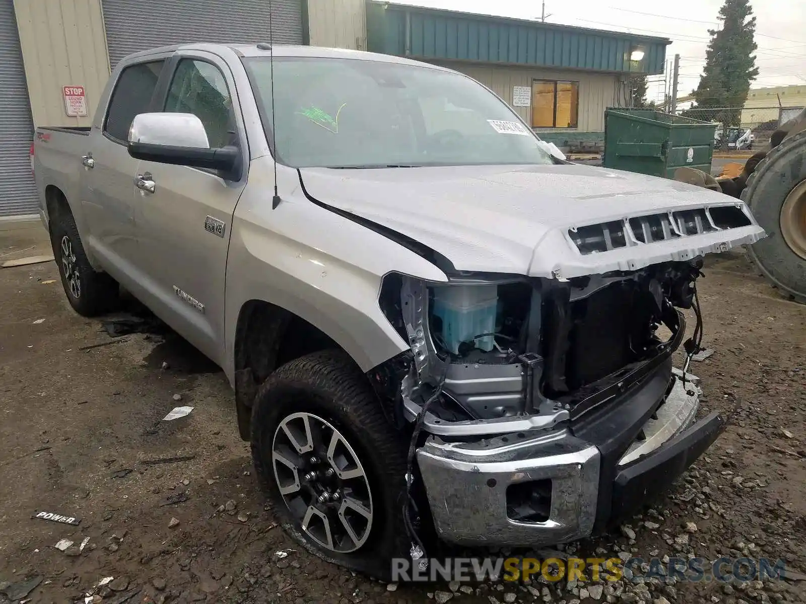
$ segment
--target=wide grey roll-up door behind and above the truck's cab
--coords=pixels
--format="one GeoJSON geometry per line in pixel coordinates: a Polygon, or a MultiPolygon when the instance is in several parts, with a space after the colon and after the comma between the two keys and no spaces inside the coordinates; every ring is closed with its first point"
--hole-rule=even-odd
{"type": "MultiPolygon", "coordinates": [[[[112,68],[132,52],[177,43],[269,40],[268,0],[102,0],[112,68]]],[[[301,0],[272,0],[274,41],[302,43],[301,0]]]]}

